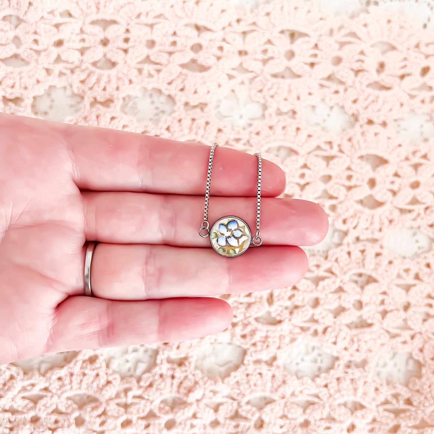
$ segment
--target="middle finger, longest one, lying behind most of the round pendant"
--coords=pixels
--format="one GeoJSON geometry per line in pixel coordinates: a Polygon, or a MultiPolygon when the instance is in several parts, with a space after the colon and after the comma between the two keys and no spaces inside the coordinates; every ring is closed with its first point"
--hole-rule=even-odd
{"type": "MultiPolygon", "coordinates": [[[[208,247],[198,234],[204,199],[139,193],[83,193],[86,239],[104,243],[169,244],[208,247]]],[[[225,215],[243,218],[253,230],[256,198],[214,197],[209,221],[225,215]]],[[[327,234],[324,210],[297,199],[264,198],[261,205],[261,236],[264,244],[311,246],[327,234]]]]}

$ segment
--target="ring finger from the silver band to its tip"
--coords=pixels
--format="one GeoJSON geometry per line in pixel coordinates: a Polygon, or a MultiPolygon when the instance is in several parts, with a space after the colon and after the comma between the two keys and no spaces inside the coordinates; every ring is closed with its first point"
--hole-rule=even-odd
{"type": "Polygon", "coordinates": [[[212,249],[98,244],[91,285],[95,296],[144,300],[286,288],[307,271],[299,247],[251,247],[237,258],[212,249]]]}

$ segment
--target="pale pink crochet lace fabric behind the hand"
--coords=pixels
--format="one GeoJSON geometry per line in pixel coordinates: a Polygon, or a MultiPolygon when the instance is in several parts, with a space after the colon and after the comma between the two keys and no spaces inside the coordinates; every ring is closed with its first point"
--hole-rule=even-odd
{"type": "Polygon", "coordinates": [[[330,216],[306,279],[224,296],[220,335],[1,366],[0,433],[433,433],[431,16],[0,0],[3,112],[261,151],[330,216]]]}

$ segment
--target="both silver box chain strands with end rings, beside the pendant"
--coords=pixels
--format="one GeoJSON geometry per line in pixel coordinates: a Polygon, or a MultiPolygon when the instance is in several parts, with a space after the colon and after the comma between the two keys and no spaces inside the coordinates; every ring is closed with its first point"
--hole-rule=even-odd
{"type": "MultiPolygon", "coordinates": [[[[210,186],[211,186],[211,171],[213,170],[213,158],[217,143],[213,143],[210,150],[210,158],[208,161],[208,173],[207,173],[207,187],[205,190],[205,207],[204,207],[204,221],[199,229],[199,235],[201,237],[208,237],[210,235],[210,224],[208,222],[208,205],[210,202],[210,186]]],[[[258,185],[256,189],[256,235],[252,237],[252,246],[260,246],[262,244],[262,238],[260,236],[261,227],[261,183],[262,183],[262,157],[259,153],[255,154],[258,158],[258,185]]]]}

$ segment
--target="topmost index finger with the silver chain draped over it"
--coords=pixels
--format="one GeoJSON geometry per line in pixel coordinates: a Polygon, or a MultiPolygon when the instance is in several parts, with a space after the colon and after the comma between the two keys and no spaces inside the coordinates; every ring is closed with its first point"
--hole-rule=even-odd
{"type": "MultiPolygon", "coordinates": [[[[59,127],[58,127],[59,128],[59,127]]],[[[63,125],[62,137],[72,151],[76,184],[98,191],[147,191],[204,194],[210,146],[104,128],[63,125]]],[[[256,194],[257,160],[230,148],[217,148],[211,192],[222,196],[256,194]]],[[[263,160],[264,196],[278,196],[285,175],[263,160]]]]}

